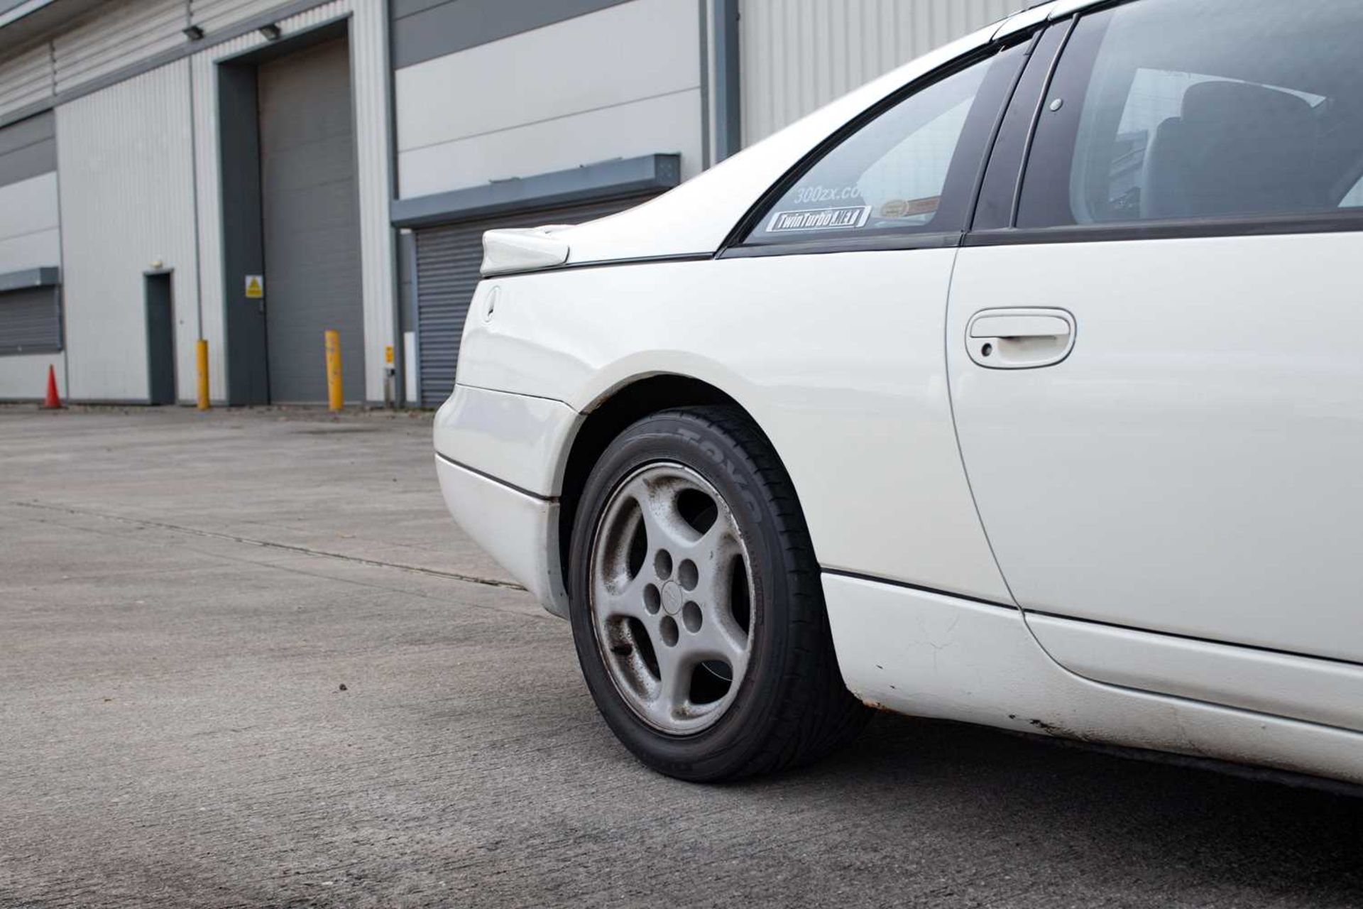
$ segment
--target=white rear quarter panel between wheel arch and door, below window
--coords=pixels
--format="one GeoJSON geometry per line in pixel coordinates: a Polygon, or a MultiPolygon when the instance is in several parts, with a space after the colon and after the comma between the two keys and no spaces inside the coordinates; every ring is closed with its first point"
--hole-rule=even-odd
{"type": "Polygon", "coordinates": [[[954,255],[721,259],[485,281],[459,383],[590,412],[642,378],[699,379],[771,439],[826,568],[1011,602],[951,422],[943,339],[954,255]]]}

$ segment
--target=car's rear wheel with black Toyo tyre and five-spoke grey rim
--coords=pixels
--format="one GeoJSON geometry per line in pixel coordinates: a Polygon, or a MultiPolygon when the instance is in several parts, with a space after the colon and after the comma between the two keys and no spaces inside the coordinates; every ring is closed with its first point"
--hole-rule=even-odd
{"type": "Polygon", "coordinates": [[[710,782],[807,763],[870,715],[842,684],[791,480],[737,409],[626,429],[587,480],[571,542],[582,673],[654,770],[710,782]]]}

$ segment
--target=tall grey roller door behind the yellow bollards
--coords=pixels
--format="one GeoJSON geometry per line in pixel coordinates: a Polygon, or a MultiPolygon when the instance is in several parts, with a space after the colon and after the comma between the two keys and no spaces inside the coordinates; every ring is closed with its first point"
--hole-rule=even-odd
{"type": "Polygon", "coordinates": [[[327,399],[323,333],[364,399],[364,311],[350,52],[345,38],[260,65],[260,202],[270,401],[327,399]]]}

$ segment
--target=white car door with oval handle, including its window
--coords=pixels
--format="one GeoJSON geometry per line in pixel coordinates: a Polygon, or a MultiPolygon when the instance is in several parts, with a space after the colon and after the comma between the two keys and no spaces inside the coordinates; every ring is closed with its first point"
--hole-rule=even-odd
{"type": "Polygon", "coordinates": [[[947,320],[1003,576],[1079,675],[1360,729],[1363,8],[1052,29],[947,320]]]}

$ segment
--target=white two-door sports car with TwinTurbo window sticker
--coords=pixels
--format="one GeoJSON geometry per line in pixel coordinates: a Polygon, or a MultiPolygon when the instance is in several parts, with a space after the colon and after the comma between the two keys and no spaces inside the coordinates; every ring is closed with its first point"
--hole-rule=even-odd
{"type": "Polygon", "coordinates": [[[1359,48],[1059,0],[489,232],[450,510],[675,777],[870,705],[1363,782],[1359,48]]]}

